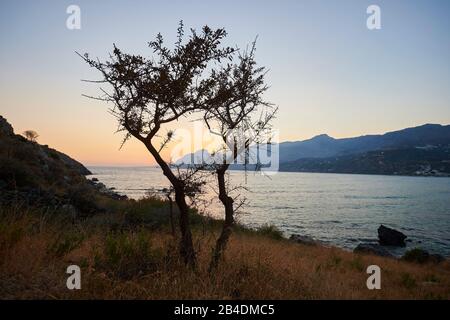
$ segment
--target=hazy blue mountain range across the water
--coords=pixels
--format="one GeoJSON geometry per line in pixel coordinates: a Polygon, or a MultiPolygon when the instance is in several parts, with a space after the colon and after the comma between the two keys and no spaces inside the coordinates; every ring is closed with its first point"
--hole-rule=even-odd
{"type": "MultiPolygon", "coordinates": [[[[304,141],[282,142],[278,147],[280,171],[450,175],[450,125],[425,124],[344,139],[322,134],[304,141]]],[[[193,158],[198,163],[199,159],[210,160],[211,155],[200,150],[177,163],[191,163],[193,158]]]]}

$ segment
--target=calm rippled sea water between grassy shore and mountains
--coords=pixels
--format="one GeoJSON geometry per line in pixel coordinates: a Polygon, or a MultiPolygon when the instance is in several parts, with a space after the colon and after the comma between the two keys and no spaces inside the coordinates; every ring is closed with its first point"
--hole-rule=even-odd
{"type": "MultiPolygon", "coordinates": [[[[131,198],[168,181],[159,168],[91,167],[93,177],[131,198]]],[[[407,248],[421,247],[450,256],[450,178],[351,174],[287,173],[270,178],[232,172],[247,205],[239,221],[257,227],[273,224],[286,235],[302,234],[346,249],[376,241],[380,224],[408,236],[407,248]]],[[[214,202],[211,215],[222,208],[214,202]]],[[[392,248],[394,254],[405,249],[392,248]]]]}

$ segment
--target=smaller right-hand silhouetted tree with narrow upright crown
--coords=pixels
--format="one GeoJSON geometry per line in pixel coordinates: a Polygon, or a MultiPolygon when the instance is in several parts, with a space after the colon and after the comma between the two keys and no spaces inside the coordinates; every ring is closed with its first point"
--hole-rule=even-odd
{"type": "MultiPolygon", "coordinates": [[[[255,42],[249,51],[239,54],[237,63],[229,63],[213,71],[214,90],[204,110],[204,120],[211,132],[218,134],[223,150],[212,164],[218,186],[218,197],[225,209],[222,231],[213,250],[210,270],[217,267],[226,248],[235,222],[235,212],[242,203],[235,204],[233,189],[227,183],[226,173],[238,157],[248,161],[252,143],[261,143],[270,132],[270,122],[276,108],[263,99],[267,90],[264,67],[255,61],[255,42]]],[[[256,155],[258,156],[258,155],[256,155]]],[[[258,165],[258,164],[257,164],[258,165]]]]}

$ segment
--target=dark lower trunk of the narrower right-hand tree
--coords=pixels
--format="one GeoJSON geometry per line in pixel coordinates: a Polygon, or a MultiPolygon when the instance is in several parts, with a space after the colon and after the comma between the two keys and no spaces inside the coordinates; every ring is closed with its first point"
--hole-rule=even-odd
{"type": "Polygon", "coordinates": [[[226,170],[217,171],[217,181],[219,185],[219,199],[225,207],[225,221],[222,225],[222,232],[217,239],[216,247],[213,251],[213,256],[211,258],[211,263],[209,265],[209,271],[213,271],[219,265],[220,259],[223,256],[223,252],[226,249],[228,240],[231,236],[232,227],[234,224],[234,209],[233,209],[233,198],[229,197],[227,194],[225,186],[225,172],[226,170]]]}

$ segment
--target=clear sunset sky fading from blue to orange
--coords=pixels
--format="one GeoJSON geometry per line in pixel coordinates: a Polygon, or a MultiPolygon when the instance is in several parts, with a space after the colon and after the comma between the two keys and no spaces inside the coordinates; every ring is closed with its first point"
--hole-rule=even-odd
{"type": "Polygon", "coordinates": [[[448,0],[1,1],[0,115],[88,165],[153,163],[138,142],[119,151],[108,106],[82,97],[98,86],[81,79],[99,75],[75,51],[150,55],[147,42],[161,32],[173,43],[179,20],[224,27],[241,48],[258,36],[281,141],[450,123],[448,0]],[[80,30],[66,28],[71,4],[80,30]],[[371,4],[381,30],[366,27],[371,4]]]}

